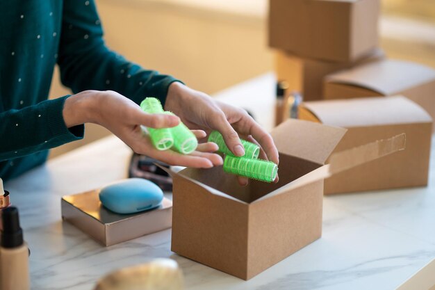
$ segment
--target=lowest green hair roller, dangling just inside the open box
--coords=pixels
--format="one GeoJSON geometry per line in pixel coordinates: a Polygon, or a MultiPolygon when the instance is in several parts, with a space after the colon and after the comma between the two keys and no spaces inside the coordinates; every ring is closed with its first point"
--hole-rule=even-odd
{"type": "Polygon", "coordinates": [[[273,182],[277,178],[278,166],[272,161],[225,156],[224,171],[235,175],[273,182]]]}

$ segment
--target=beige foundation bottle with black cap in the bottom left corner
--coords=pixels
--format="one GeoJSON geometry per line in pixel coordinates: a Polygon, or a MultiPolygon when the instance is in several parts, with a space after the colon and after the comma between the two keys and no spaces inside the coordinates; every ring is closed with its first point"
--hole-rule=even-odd
{"type": "Polygon", "coordinates": [[[1,211],[1,216],[0,289],[29,290],[28,248],[19,227],[18,209],[7,207],[1,211]]]}

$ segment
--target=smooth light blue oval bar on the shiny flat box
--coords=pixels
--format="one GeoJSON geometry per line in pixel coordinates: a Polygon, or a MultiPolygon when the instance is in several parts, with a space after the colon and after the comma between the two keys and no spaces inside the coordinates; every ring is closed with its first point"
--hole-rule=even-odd
{"type": "Polygon", "coordinates": [[[159,207],[163,191],[149,180],[130,178],[101,188],[99,200],[117,214],[134,214],[159,207]]]}

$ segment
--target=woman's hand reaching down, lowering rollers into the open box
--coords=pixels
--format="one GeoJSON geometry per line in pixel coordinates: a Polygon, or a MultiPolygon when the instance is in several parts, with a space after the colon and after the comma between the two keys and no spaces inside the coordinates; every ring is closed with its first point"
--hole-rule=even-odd
{"type": "MultiPolygon", "coordinates": [[[[279,163],[272,136],[242,108],[218,102],[203,92],[174,82],[167,92],[165,109],[179,116],[190,129],[201,129],[207,134],[212,130],[220,131],[229,150],[236,156],[245,154],[241,137],[260,145],[262,159],[279,163]]],[[[240,177],[239,182],[245,185],[247,179],[240,177]]]]}

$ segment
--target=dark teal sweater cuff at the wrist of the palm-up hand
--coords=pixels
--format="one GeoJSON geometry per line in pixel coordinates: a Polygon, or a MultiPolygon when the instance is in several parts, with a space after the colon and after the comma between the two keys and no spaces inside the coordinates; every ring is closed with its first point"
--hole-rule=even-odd
{"type": "Polygon", "coordinates": [[[63,105],[65,104],[65,99],[68,97],[71,97],[71,95],[66,95],[64,97],[59,97],[58,99],[53,99],[51,102],[46,102],[43,109],[51,138],[56,139],[56,143],[68,143],[75,140],[81,140],[85,133],[84,124],[68,129],[65,120],[63,120],[63,105]]]}

